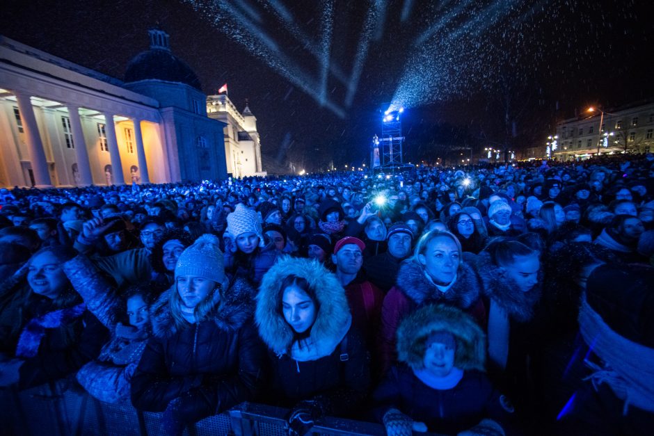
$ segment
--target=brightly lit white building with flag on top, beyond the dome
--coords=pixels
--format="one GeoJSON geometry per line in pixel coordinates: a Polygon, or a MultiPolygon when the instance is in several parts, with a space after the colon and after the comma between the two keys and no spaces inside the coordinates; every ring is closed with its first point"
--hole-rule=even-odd
{"type": "Polygon", "coordinates": [[[225,94],[207,96],[207,115],[224,122],[227,172],[234,177],[265,176],[261,164],[261,143],[257,118],[248,106],[239,113],[225,94]]]}

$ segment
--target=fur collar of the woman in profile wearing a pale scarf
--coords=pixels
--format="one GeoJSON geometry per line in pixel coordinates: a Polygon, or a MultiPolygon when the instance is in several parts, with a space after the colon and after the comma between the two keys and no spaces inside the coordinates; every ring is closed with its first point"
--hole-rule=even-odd
{"type": "Polygon", "coordinates": [[[539,282],[527,292],[520,291],[518,285],[507,275],[501,266],[493,264],[490,255],[479,253],[477,257],[477,271],[481,278],[484,295],[507,312],[510,318],[525,323],[534,316],[534,307],[541,298],[543,282],[542,273],[539,272],[539,282]]]}

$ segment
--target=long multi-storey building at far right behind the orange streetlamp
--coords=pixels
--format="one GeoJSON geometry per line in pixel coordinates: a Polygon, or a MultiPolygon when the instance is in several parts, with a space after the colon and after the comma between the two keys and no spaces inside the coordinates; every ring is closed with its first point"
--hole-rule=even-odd
{"type": "MultiPolygon", "coordinates": [[[[646,153],[654,150],[654,102],[584,113],[557,124],[559,161],[587,159],[600,154],[646,153]],[[600,126],[601,120],[601,126],[600,126]]],[[[549,140],[548,140],[549,142],[549,140]]],[[[546,145],[543,145],[543,155],[546,145]]]]}

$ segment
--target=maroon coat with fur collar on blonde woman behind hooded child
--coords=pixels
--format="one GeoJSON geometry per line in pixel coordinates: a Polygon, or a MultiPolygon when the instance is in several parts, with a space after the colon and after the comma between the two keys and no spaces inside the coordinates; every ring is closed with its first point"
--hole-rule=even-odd
{"type": "Polygon", "coordinates": [[[456,273],[456,282],[441,292],[425,274],[424,268],[412,260],[401,264],[397,285],[384,298],[381,309],[381,363],[383,369],[396,362],[395,333],[400,321],[418,307],[443,304],[468,312],[481,326],[486,326],[486,310],[481,300],[482,285],[468,261],[462,261],[456,273]]]}

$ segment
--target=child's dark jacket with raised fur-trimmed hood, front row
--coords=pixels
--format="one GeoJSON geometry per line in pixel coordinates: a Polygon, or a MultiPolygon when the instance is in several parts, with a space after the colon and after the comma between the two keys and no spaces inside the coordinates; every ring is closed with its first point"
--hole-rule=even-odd
{"type": "Polygon", "coordinates": [[[388,410],[397,409],[435,433],[495,434],[474,433],[480,423],[488,427],[489,419],[494,421],[491,428],[502,427],[497,433],[507,433],[513,408],[484,373],[485,343],[479,325],[455,307],[428,305],[404,318],[397,332],[401,363],[388,371],[374,392],[376,419],[383,421],[388,410]],[[426,385],[415,372],[424,369],[424,341],[434,332],[449,332],[456,342],[454,367],[463,374],[452,387],[426,385]]]}

